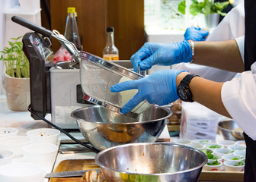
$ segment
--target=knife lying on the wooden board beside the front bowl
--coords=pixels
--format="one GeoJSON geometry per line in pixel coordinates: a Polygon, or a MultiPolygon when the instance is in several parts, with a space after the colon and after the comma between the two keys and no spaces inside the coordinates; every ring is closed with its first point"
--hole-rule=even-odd
{"type": "Polygon", "coordinates": [[[53,177],[80,177],[87,171],[97,171],[99,173],[101,171],[100,168],[89,169],[89,170],[78,170],[78,171],[64,171],[64,172],[56,172],[56,173],[47,173],[45,178],[53,178],[53,177]]]}

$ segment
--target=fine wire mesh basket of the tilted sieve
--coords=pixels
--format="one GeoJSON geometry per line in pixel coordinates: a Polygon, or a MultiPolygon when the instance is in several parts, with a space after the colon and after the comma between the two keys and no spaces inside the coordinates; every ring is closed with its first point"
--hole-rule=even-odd
{"type": "MultiPolygon", "coordinates": [[[[112,93],[110,87],[114,84],[134,79],[126,77],[124,74],[112,70],[110,67],[104,67],[101,64],[95,63],[86,57],[82,57],[80,61],[80,76],[82,90],[85,94],[101,102],[114,105],[117,108],[122,108],[137,93],[137,89],[112,93]]],[[[136,108],[133,108],[132,112],[139,114],[151,106],[145,100],[139,103],[136,108]]]]}

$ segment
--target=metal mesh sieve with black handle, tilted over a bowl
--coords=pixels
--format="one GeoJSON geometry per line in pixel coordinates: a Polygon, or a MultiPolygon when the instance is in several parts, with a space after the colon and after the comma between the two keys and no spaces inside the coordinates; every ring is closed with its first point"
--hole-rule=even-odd
{"type": "MultiPolygon", "coordinates": [[[[111,61],[104,60],[98,56],[92,55],[88,52],[79,52],[72,42],[69,42],[65,36],[60,34],[57,30],[46,30],[36,24],[22,19],[21,17],[11,17],[11,20],[21,24],[24,27],[41,33],[44,36],[58,39],[59,42],[69,51],[72,55],[72,64],[70,67],[80,68],[80,79],[82,84],[82,91],[84,99],[96,105],[101,105],[121,114],[120,109],[126,104],[133,96],[136,95],[137,89],[126,90],[120,93],[112,93],[110,87],[116,83],[127,80],[138,80],[143,76],[137,74],[125,67],[114,64],[111,61]]],[[[139,69],[138,69],[139,70],[139,69]]],[[[128,115],[137,117],[139,113],[145,111],[152,105],[146,100],[139,103],[128,115]]]]}

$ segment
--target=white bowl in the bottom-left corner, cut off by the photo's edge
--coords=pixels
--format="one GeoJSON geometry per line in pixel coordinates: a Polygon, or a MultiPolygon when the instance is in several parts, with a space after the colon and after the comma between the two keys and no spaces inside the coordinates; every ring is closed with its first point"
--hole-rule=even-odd
{"type": "Polygon", "coordinates": [[[43,169],[31,163],[12,162],[0,166],[0,181],[43,182],[43,169]]]}

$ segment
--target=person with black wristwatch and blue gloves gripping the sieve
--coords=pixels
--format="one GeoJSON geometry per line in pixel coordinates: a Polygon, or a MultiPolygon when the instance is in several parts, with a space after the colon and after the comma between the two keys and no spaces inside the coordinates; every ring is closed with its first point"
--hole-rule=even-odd
{"type": "Polygon", "coordinates": [[[165,70],[140,80],[118,83],[110,88],[112,92],[138,89],[136,96],[123,106],[123,113],[131,111],[144,99],[152,104],[166,105],[180,98],[184,102],[199,102],[221,115],[233,118],[245,131],[245,181],[256,181],[255,11],[256,2],[245,0],[245,36],[214,42],[184,40],[171,44],[146,43],[131,58],[133,65],[139,65],[142,70],[154,64],[194,62],[241,73],[241,77],[216,82],[184,70],[165,70]]]}

